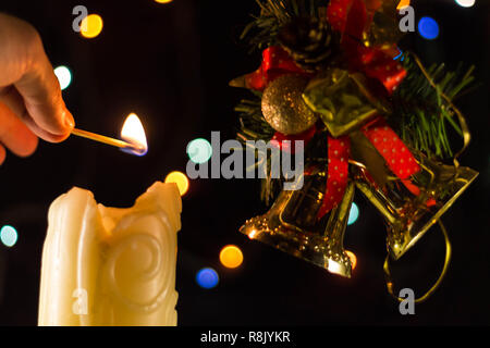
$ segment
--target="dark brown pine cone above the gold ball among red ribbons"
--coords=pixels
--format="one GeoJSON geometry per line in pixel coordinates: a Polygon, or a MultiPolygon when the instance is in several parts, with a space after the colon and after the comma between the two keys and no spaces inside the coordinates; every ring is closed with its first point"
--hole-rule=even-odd
{"type": "Polygon", "coordinates": [[[296,63],[307,71],[316,71],[339,51],[340,36],[326,21],[296,17],[284,25],[279,42],[296,63]]]}

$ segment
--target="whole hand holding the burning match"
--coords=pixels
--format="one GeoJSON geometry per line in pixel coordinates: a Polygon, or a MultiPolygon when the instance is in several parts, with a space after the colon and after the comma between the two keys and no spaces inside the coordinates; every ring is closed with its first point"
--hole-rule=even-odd
{"type": "Polygon", "coordinates": [[[27,157],[36,150],[37,137],[60,142],[73,127],[39,34],[0,13],[0,164],[4,147],[27,157]]]}

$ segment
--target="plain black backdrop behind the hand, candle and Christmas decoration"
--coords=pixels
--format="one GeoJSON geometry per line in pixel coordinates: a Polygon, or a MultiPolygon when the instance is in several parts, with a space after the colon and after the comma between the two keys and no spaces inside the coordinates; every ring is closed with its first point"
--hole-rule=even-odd
{"type": "MultiPolygon", "coordinates": [[[[345,247],[357,254],[351,279],[277,251],[238,233],[246,220],[267,210],[255,181],[197,179],[183,197],[176,287],[180,325],[327,325],[490,323],[489,234],[489,33],[490,5],[477,0],[464,9],[453,0],[415,1],[416,20],[434,17],[440,37],[408,35],[406,47],[428,65],[463,61],[477,66],[479,89],[458,100],[473,130],[461,162],[480,176],[443,216],[453,260],[440,289],[401,315],[384,286],[385,227],[356,194],[358,221],[348,226],[345,247]],[[226,270],[219,251],[236,244],[244,263],[226,270]],[[196,272],[215,268],[220,283],[203,289],[196,272]]],[[[0,225],[19,232],[13,248],[0,245],[0,325],[36,325],[40,256],[51,201],[72,186],[90,189],[107,206],[128,207],[155,181],[185,172],[186,145],[196,137],[234,137],[234,104],[244,96],[228,82],[254,71],[259,54],[247,55],[238,34],[258,13],[253,0],[2,1],[0,11],[30,22],[41,34],[53,66],[72,70],[65,101],[77,126],[117,136],[136,112],[149,152],[137,158],[81,138],[60,145],[41,141],[36,153],[9,153],[0,167],[0,225]],[[84,4],[105,21],[100,36],[86,40],[72,30],[72,9],[84,4]]],[[[1,48],[0,48],[1,52],[1,48]]],[[[425,291],[437,278],[443,239],[432,228],[394,268],[396,285],[425,291]]]]}

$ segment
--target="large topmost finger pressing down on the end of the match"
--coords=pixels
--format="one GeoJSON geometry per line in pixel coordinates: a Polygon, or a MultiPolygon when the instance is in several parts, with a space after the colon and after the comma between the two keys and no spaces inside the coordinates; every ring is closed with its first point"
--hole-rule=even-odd
{"type": "Polygon", "coordinates": [[[14,85],[33,122],[49,134],[66,136],[74,126],[41,39],[28,23],[0,14],[0,86],[14,85]]]}

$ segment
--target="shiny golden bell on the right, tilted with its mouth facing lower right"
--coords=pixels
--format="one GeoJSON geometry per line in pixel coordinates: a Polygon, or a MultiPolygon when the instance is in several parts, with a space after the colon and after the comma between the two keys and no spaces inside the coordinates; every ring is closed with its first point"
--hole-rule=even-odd
{"type": "Polygon", "coordinates": [[[469,167],[444,165],[421,153],[414,153],[420,172],[409,185],[419,189],[413,194],[397,177],[389,177],[380,186],[366,167],[355,167],[357,188],[375,204],[388,225],[387,244],[392,259],[400,259],[454,203],[478,176],[469,167]]]}

